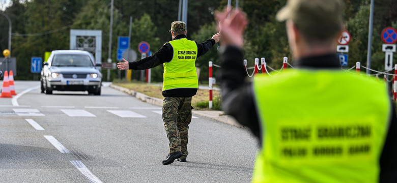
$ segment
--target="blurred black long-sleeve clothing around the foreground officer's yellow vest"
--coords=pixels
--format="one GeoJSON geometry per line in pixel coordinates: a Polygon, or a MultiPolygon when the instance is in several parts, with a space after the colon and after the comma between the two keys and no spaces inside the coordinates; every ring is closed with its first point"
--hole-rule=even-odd
{"type": "MultiPolygon", "coordinates": [[[[235,117],[241,125],[248,127],[262,144],[252,82],[243,66],[243,53],[239,48],[229,46],[222,48],[220,54],[222,70],[218,74],[220,77],[218,79],[221,86],[222,108],[226,114],[235,117]]],[[[340,69],[339,60],[334,53],[298,59],[294,67],[340,69]]],[[[379,160],[380,182],[397,182],[397,116],[393,102],[391,106],[389,129],[379,160]]]]}

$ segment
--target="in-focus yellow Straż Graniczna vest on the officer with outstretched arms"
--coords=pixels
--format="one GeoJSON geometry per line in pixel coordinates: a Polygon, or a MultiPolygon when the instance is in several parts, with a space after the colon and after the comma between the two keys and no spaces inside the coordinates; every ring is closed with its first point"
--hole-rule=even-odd
{"type": "Polygon", "coordinates": [[[168,42],[174,49],[171,62],[164,63],[163,90],[198,88],[195,60],[197,44],[186,38],[168,42]]]}

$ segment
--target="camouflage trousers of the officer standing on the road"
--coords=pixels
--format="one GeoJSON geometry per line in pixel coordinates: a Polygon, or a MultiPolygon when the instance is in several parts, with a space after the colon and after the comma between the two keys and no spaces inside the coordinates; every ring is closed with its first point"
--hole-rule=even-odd
{"type": "Polygon", "coordinates": [[[187,133],[191,121],[191,97],[165,97],[162,116],[164,129],[169,140],[169,153],[182,152],[181,158],[186,158],[187,133]]]}

